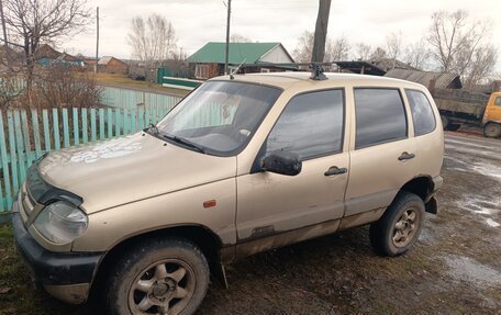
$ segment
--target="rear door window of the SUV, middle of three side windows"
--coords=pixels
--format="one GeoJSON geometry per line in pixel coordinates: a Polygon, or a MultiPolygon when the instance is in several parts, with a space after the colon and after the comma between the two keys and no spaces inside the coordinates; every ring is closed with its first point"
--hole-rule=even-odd
{"type": "Polygon", "coordinates": [[[364,148],[407,137],[407,117],[398,89],[355,89],[355,147],[364,148]]]}

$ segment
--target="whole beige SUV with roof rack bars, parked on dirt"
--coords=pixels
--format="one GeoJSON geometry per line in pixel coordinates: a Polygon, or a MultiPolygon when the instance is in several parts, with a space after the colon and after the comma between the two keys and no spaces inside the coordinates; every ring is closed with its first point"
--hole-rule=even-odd
{"type": "Polygon", "coordinates": [[[37,161],[15,239],[60,300],[103,289],[110,314],[192,314],[248,255],[364,224],[378,254],[405,252],[437,212],[443,142],[416,83],[214,78],[156,126],[37,161]]]}

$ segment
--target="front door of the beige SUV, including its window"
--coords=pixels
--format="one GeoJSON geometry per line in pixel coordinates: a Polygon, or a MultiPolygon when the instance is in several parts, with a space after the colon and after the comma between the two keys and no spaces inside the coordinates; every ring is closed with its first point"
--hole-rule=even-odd
{"type": "MultiPolygon", "coordinates": [[[[238,243],[335,222],[343,216],[349,173],[348,154],[343,151],[344,116],[342,89],[291,99],[257,161],[270,153],[286,150],[299,155],[302,170],[297,176],[257,171],[237,177],[238,243]]],[[[263,248],[267,246],[275,247],[267,244],[263,248]]]]}

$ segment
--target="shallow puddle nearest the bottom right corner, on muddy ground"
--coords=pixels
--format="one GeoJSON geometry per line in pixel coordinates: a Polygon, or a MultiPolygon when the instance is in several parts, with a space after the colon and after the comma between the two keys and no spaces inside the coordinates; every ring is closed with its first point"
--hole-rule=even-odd
{"type": "Polygon", "coordinates": [[[501,285],[501,272],[468,257],[446,257],[447,271],[457,280],[478,285],[501,285]]]}

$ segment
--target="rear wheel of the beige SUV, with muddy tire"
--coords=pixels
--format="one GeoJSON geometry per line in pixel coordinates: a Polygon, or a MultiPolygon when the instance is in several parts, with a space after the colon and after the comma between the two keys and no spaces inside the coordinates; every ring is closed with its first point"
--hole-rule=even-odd
{"type": "Polygon", "coordinates": [[[400,256],[417,240],[423,227],[424,202],[400,191],[385,214],[370,225],[370,244],[381,256],[400,256]]]}

